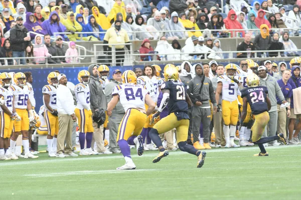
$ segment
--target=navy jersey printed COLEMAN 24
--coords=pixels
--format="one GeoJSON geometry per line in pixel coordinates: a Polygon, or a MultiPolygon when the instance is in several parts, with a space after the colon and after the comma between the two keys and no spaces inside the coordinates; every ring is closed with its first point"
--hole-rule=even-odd
{"type": "Polygon", "coordinates": [[[241,90],[241,97],[246,97],[251,106],[252,114],[260,114],[267,110],[265,101],[268,89],[265,86],[247,87],[241,90]]]}

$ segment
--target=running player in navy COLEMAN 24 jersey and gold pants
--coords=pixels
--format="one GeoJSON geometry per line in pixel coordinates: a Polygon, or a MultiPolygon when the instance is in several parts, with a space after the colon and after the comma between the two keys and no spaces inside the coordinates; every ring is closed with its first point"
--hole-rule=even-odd
{"type": "MultiPolygon", "coordinates": [[[[243,107],[241,113],[240,124],[242,125],[243,120],[247,115],[247,102],[251,106],[252,114],[255,116],[255,122],[251,128],[252,130],[252,141],[254,144],[258,144],[260,152],[254,154],[254,156],[267,156],[263,143],[267,143],[276,139],[279,139],[284,144],[283,133],[279,133],[274,136],[261,138],[264,128],[269,121],[268,110],[271,108],[270,99],[267,96],[268,89],[265,86],[259,86],[259,77],[255,74],[249,74],[246,78],[248,87],[241,90],[241,97],[243,97],[243,107]]],[[[241,127],[240,125],[240,127],[241,127]]]]}

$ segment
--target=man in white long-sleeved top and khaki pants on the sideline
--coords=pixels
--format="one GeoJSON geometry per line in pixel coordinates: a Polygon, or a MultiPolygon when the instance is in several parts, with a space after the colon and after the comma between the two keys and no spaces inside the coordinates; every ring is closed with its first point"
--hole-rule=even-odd
{"type": "Polygon", "coordinates": [[[70,89],[67,87],[67,77],[65,74],[58,75],[59,86],[57,88],[57,106],[59,116],[59,133],[57,138],[56,157],[78,156],[72,152],[72,127],[76,120],[74,114],[74,101],[70,89]],[[64,144],[66,140],[66,147],[64,144]],[[65,151],[65,154],[64,154],[65,151]]]}

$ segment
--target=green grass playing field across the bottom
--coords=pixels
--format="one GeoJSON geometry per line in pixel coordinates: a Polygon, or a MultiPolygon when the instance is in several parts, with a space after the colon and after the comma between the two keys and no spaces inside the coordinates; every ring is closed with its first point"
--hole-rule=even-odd
{"type": "Polygon", "coordinates": [[[140,157],[135,170],[117,171],[121,154],[1,161],[0,199],[300,199],[301,145],[207,150],[197,157],[172,151],[158,163],[158,151],[140,157]]]}

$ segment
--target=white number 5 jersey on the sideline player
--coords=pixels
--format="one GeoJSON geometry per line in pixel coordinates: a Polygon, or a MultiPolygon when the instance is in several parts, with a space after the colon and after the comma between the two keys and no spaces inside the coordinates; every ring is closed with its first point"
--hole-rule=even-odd
{"type": "MultiPolygon", "coordinates": [[[[239,76],[234,76],[238,79],[239,76]]],[[[227,101],[234,101],[237,99],[237,95],[241,95],[240,90],[238,89],[238,84],[231,80],[227,75],[220,75],[217,77],[217,82],[223,83],[222,88],[222,99],[227,101]]]]}

